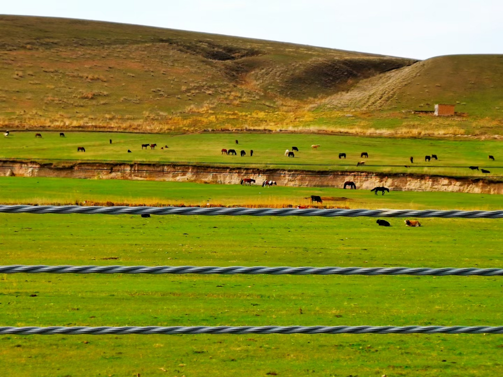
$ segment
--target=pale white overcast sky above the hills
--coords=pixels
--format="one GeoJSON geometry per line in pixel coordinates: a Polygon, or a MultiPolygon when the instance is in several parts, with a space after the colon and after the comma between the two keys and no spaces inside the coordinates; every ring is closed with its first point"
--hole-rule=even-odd
{"type": "Polygon", "coordinates": [[[17,0],[0,13],[158,26],[426,59],[503,53],[502,0],[17,0]]]}

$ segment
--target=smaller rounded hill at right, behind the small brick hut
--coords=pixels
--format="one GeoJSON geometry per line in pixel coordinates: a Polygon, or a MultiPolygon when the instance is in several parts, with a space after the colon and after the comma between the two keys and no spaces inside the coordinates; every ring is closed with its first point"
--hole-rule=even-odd
{"type": "Polygon", "coordinates": [[[449,55],[362,80],[330,106],[433,110],[438,103],[475,117],[503,116],[503,55],[449,55]]]}

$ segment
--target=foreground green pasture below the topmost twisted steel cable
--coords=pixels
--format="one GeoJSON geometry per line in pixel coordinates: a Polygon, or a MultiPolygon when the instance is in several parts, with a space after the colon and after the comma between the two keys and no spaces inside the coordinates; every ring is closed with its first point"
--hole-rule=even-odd
{"type": "MultiPolygon", "coordinates": [[[[500,220],[1,214],[2,264],[500,266],[500,220]]],[[[499,277],[3,274],[5,326],[500,325],[499,277]],[[32,296],[36,295],[36,296],[32,296]],[[300,309],[302,309],[302,314],[300,309]]],[[[494,375],[497,335],[0,337],[6,375],[494,375]],[[268,374],[269,373],[269,374],[268,374]]]]}

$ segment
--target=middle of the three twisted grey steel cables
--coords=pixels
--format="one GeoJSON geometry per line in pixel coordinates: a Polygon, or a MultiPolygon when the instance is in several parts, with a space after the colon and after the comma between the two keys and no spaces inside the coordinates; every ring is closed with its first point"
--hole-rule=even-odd
{"type": "Polygon", "coordinates": [[[415,275],[503,276],[503,268],[429,267],[264,267],[264,266],[50,266],[0,265],[0,273],[148,273],[148,274],[269,274],[269,275],[415,275]]]}

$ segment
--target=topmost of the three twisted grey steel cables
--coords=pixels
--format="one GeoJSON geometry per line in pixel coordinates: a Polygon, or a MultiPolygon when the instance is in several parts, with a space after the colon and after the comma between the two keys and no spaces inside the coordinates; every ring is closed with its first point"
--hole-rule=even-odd
{"type": "Polygon", "coordinates": [[[102,215],[204,215],[204,216],[319,216],[319,217],[440,217],[465,219],[501,219],[503,210],[366,210],[318,208],[244,208],[244,207],[99,207],[99,206],[27,206],[0,205],[0,213],[102,214],[102,215]]]}

